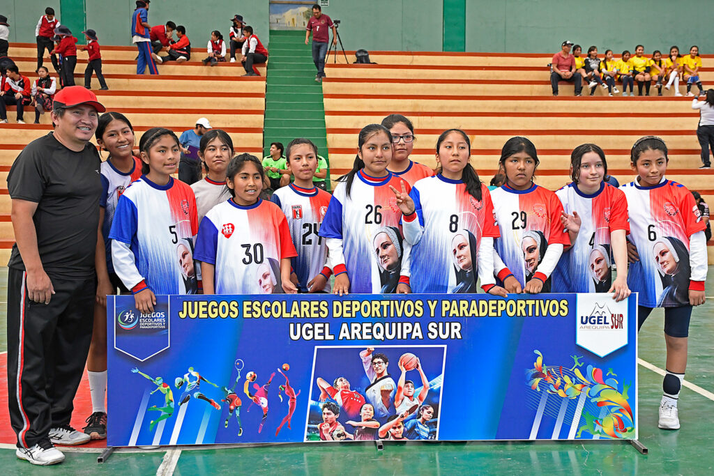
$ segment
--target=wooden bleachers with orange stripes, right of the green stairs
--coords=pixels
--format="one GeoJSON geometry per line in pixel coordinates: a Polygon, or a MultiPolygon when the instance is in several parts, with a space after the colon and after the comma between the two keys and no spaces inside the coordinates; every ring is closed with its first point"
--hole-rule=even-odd
{"type": "MultiPolygon", "coordinates": [[[[696,128],[698,111],[688,97],[650,88],[650,97],[610,97],[595,86],[594,96],[574,97],[574,86],[560,83],[560,95],[550,89],[552,54],[418,53],[373,51],[376,64],[350,64],[331,56],[323,80],[325,121],[331,176],[352,165],[357,134],[368,123],[390,113],[413,121],[416,141],[412,158],[436,167],[436,138],[447,128],[462,128],[471,138],[472,161],[489,181],[498,168],[503,143],[526,136],[538,148],[537,183],[556,190],[570,181],[570,152],[581,143],[605,150],[608,171],[620,183],[632,180],[630,148],[641,136],[658,135],[670,149],[668,178],[699,191],[714,203],[714,170],[700,171],[696,128]],[[504,60],[508,66],[503,66],[504,60]]],[[[714,83],[714,56],[704,56],[701,78],[714,83]]],[[[621,89],[621,87],[620,87],[621,89]]],[[[680,91],[686,92],[680,83],[680,91]]],[[[714,243],[709,262],[714,264],[714,243]]]]}

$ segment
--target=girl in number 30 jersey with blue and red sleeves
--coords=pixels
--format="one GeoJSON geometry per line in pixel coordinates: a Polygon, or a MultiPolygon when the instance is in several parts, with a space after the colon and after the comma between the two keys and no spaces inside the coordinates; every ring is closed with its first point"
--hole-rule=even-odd
{"type": "Polygon", "coordinates": [[[297,253],[283,211],[261,199],[263,166],[249,153],[228,164],[231,198],[211,208],[196,237],[204,294],[296,293],[290,280],[297,253]]]}

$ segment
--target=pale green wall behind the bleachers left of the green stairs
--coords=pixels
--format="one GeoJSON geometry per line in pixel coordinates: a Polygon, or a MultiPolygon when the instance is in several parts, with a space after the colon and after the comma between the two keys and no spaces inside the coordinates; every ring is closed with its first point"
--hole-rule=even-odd
{"type": "MultiPolygon", "coordinates": [[[[96,30],[100,44],[131,45],[134,0],[0,0],[0,12],[9,17],[10,41],[34,43],[35,25],[47,6],[59,13],[62,24],[81,41],[86,19],[86,28],[96,30]]],[[[261,41],[268,44],[268,0],[240,4],[231,0],[154,0],[149,7],[149,23],[153,26],[173,20],[186,26],[192,46],[203,49],[212,30],[218,29],[228,37],[230,19],[235,14],[243,15],[261,41]]]]}

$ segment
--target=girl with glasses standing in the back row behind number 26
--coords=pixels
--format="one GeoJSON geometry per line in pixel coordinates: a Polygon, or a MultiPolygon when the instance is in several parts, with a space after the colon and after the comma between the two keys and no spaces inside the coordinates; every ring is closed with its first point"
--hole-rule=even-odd
{"type": "Polygon", "coordinates": [[[409,158],[414,150],[416,136],[408,118],[401,114],[390,114],[382,119],[382,126],[388,128],[392,136],[392,161],[389,163],[391,173],[403,178],[411,186],[422,178],[434,175],[431,168],[409,158]]]}

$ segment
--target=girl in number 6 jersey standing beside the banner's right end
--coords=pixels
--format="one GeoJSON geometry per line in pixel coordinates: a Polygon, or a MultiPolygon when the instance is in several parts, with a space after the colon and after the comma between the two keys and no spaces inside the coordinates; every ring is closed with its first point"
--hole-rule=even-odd
{"type": "Polygon", "coordinates": [[[653,308],[665,308],[667,365],[658,425],[677,430],[692,306],[705,301],[705,224],[690,191],[665,178],[668,156],[661,138],[640,138],[630,160],[638,176],[620,187],[630,216],[628,285],[639,293],[640,328],[653,308]]]}

